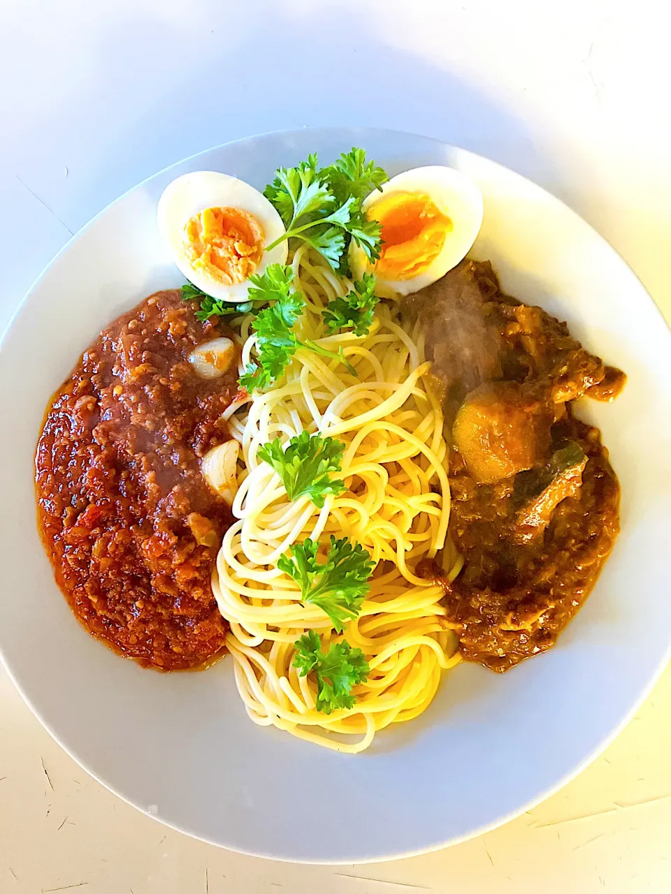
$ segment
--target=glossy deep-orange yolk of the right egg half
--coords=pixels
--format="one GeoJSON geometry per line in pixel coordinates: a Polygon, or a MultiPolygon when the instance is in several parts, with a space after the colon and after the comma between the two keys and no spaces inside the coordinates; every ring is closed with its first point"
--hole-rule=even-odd
{"type": "Polygon", "coordinates": [[[375,272],[386,280],[409,280],[423,273],[453,228],[450,218],[420,192],[390,192],[366,214],[382,228],[375,272]]]}

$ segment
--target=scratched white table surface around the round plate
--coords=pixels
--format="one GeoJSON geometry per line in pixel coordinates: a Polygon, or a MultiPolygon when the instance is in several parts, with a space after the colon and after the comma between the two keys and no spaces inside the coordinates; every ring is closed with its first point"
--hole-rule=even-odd
{"type": "MultiPolygon", "coordinates": [[[[0,0],[0,330],[70,234],[149,174],[252,133],[338,123],[426,133],[531,177],[610,240],[671,319],[664,10],[0,0]]],[[[450,777],[458,798],[446,766],[450,777]]],[[[80,889],[667,892],[671,671],[605,755],[529,814],[436,854],[359,867],[277,864],[167,830],[90,780],[0,671],[0,892],[80,889]]]]}

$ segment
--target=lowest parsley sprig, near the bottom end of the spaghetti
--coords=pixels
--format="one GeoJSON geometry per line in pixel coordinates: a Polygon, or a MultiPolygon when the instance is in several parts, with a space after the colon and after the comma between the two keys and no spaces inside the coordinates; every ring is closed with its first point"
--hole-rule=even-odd
{"type": "Polygon", "coordinates": [[[370,673],[369,663],[361,649],[343,640],[332,643],[327,653],[321,648],[321,638],[314,630],[296,640],[293,666],[301,677],[314,671],[317,677],[317,710],[330,714],[339,708],[350,709],[356,698],[352,687],[363,683],[370,673]]]}

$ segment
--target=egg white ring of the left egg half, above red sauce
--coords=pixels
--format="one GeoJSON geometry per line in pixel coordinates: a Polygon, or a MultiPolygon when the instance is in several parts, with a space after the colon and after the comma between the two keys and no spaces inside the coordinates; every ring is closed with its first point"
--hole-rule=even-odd
{"type": "MultiPolygon", "coordinates": [[[[191,266],[184,253],[184,224],[205,208],[242,208],[254,215],[263,228],[265,244],[270,245],[285,232],[285,224],[268,198],[249,183],[227,173],[196,171],[185,173],[169,183],[158,201],[158,231],[180,272],[195,286],[213,298],[223,301],[243,301],[247,297],[249,281],[225,285],[191,266]]],[[[255,273],[263,274],[269,264],[285,264],[286,240],[275,249],[266,251],[255,273]]]]}

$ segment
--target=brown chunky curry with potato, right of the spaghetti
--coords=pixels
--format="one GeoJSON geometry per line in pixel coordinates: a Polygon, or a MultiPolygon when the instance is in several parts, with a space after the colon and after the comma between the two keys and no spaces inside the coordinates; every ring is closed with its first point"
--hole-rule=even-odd
{"type": "MultiPolygon", "coordinates": [[[[403,309],[420,320],[455,436],[449,535],[464,559],[452,584],[435,563],[419,570],[443,582],[463,657],[506,671],[554,645],[613,547],[619,485],[599,430],[575,418],[570,401],[611,401],[625,376],[565,323],[505,295],[488,263],[463,261],[403,309]],[[505,444],[505,419],[486,417],[509,419],[505,409],[545,414],[538,444],[505,444]],[[469,425],[471,440],[456,438],[469,425]],[[478,465],[470,453],[485,444],[484,460],[497,462],[478,465]]],[[[533,434],[527,426],[524,437],[533,434]]]]}

